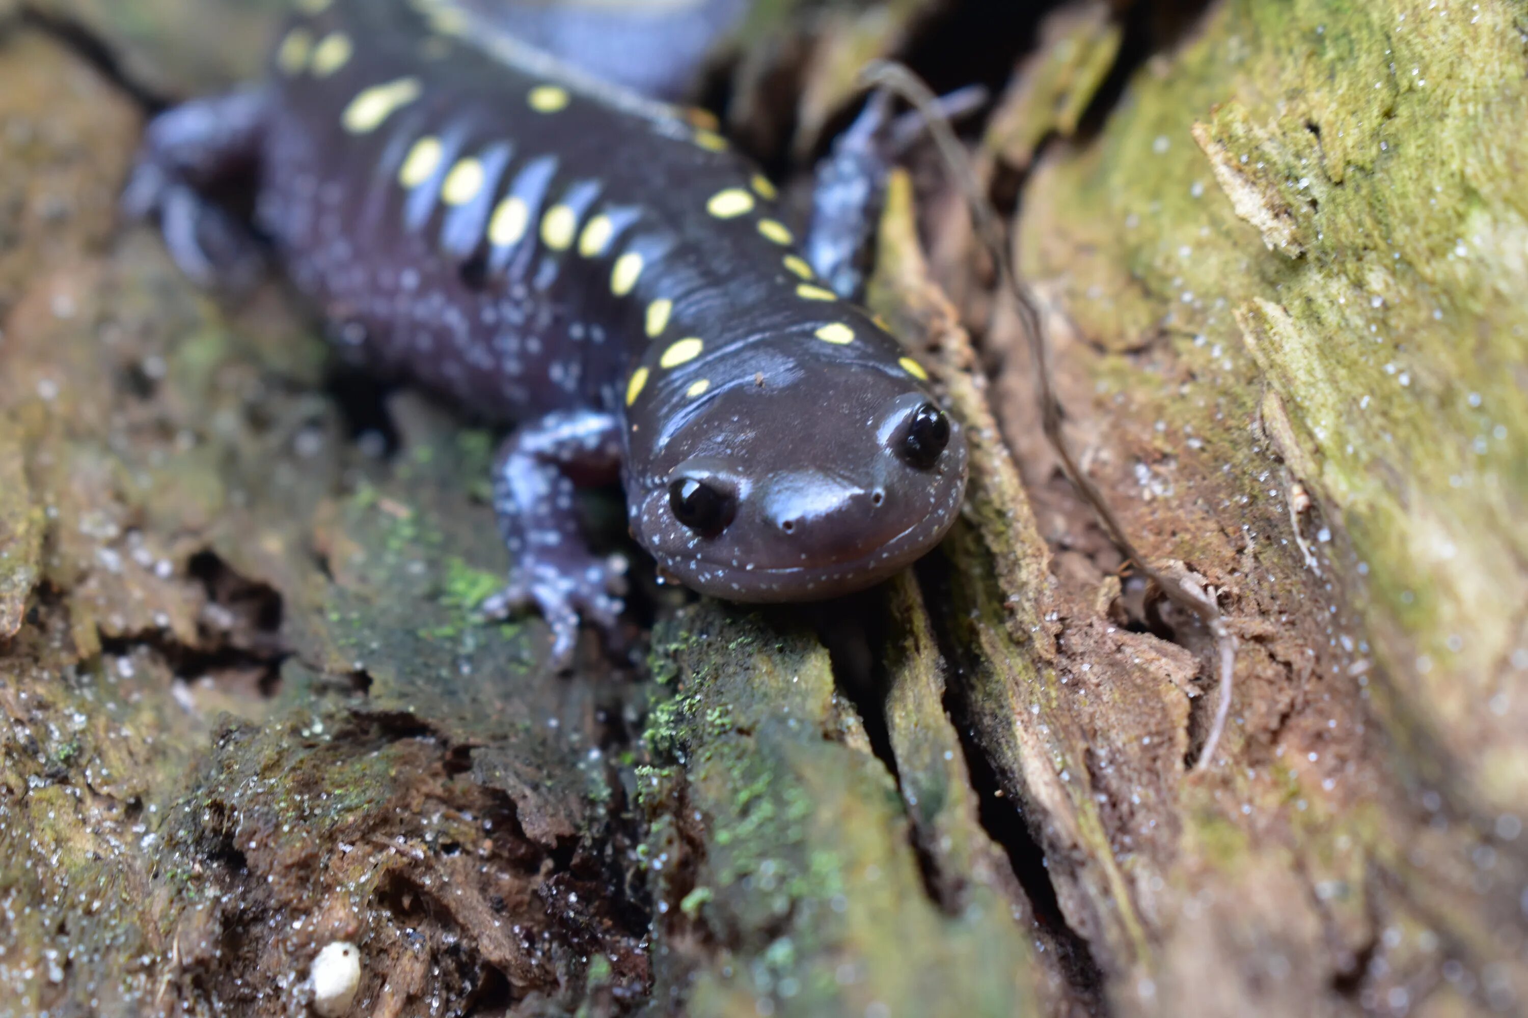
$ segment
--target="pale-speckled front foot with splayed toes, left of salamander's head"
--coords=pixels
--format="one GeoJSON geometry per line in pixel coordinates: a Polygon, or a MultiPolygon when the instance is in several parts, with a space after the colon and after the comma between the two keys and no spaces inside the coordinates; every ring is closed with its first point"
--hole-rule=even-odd
{"type": "Polygon", "coordinates": [[[579,620],[597,626],[608,646],[619,641],[625,594],[625,557],[579,556],[576,563],[532,562],[516,568],[509,585],[483,601],[481,610],[489,618],[504,618],[535,604],[552,627],[552,665],[561,672],[573,661],[579,620]]]}

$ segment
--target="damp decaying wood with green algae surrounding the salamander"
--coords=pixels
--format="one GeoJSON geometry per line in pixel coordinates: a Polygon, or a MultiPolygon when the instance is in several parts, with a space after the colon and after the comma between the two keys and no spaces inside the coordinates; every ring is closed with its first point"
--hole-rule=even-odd
{"type": "Polygon", "coordinates": [[[1068,440],[1238,641],[1216,759],[926,154],[869,302],[969,429],[949,539],[808,609],[639,563],[559,678],[474,610],[495,437],[118,220],[139,99],[280,5],[0,0],[0,1015],[306,1013],[335,940],[356,1015],[1528,1007],[1528,8],[795,6],[723,110],[787,197],[865,60],[993,73],[1068,440]]]}

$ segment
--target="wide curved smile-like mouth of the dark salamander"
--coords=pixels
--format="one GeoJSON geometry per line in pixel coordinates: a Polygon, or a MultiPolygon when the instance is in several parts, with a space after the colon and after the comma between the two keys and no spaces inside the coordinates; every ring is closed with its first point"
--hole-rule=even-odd
{"type": "Polygon", "coordinates": [[[842,597],[895,575],[932,551],[953,525],[964,495],[961,472],[929,514],[871,551],[836,562],[769,568],[662,551],[654,557],[685,586],[727,601],[761,604],[842,597]]]}

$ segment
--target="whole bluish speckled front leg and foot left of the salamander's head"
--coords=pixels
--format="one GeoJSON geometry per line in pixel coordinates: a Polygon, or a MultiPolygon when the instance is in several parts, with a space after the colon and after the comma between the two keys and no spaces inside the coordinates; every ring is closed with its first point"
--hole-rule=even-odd
{"type": "Polygon", "coordinates": [[[567,667],[579,618],[616,629],[626,592],[626,562],[597,559],[579,533],[575,482],[613,481],[620,467],[620,424],[610,414],[559,411],[515,430],[494,469],[494,510],[515,563],[509,586],[483,610],[503,617],[535,603],[552,626],[552,659],[567,667]]]}

